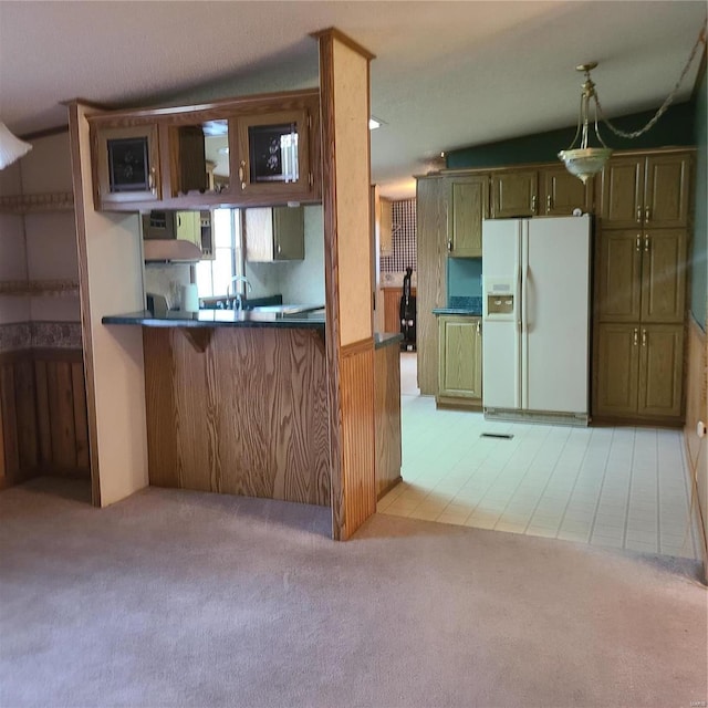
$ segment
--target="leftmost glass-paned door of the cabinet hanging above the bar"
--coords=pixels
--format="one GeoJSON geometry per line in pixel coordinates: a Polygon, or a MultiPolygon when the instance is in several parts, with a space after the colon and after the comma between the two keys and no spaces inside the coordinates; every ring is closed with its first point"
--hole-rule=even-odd
{"type": "Polygon", "coordinates": [[[162,198],[156,123],[131,127],[92,126],[95,207],[162,198]]]}

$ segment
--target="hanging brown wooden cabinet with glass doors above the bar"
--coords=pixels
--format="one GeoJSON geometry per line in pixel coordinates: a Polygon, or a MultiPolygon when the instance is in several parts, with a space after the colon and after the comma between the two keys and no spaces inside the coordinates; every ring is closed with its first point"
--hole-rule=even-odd
{"type": "Polygon", "coordinates": [[[104,112],[88,122],[96,209],[199,210],[321,199],[314,88],[104,112]]]}

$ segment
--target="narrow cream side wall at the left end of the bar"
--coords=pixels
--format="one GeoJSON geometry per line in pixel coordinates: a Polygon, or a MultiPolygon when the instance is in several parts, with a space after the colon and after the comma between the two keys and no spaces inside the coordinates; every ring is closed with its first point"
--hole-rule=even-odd
{"type": "Polygon", "coordinates": [[[93,391],[90,426],[95,435],[92,471],[98,473],[105,507],[148,483],[142,327],[101,322],[107,314],[143,309],[143,244],[138,215],[94,210],[85,108],[76,107],[70,125],[81,156],[75,191],[83,200],[77,221],[85,232],[84,240],[80,231],[80,253],[85,259],[82,288],[87,295],[84,356],[93,384],[88,388],[93,391]]]}

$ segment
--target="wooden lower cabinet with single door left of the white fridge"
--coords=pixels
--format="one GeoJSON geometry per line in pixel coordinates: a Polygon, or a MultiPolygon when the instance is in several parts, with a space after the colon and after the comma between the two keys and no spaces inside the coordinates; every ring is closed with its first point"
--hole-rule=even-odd
{"type": "Polygon", "coordinates": [[[481,317],[440,315],[438,319],[438,405],[481,408],[481,317]]]}

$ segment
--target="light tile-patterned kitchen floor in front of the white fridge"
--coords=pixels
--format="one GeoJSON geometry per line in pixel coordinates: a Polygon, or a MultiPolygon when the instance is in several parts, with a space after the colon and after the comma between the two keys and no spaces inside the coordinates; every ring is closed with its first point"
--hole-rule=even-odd
{"type": "Polygon", "coordinates": [[[436,410],[417,395],[415,354],[402,355],[402,393],[404,481],[379,512],[698,558],[680,430],[436,410]]]}

